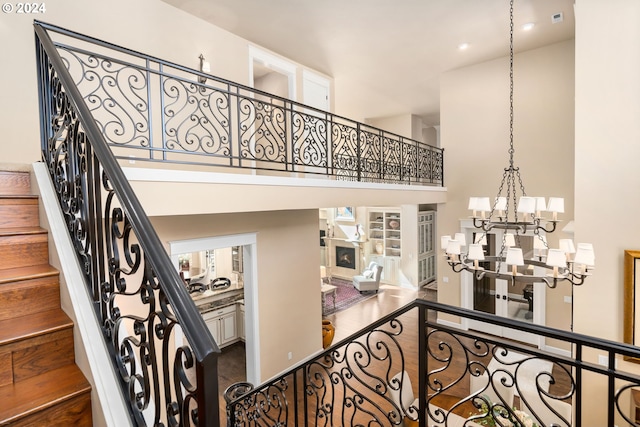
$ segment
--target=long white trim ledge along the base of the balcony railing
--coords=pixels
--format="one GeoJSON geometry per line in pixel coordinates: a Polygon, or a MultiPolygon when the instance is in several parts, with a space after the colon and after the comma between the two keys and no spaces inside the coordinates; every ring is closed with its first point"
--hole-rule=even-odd
{"type": "Polygon", "coordinates": [[[289,187],[313,187],[313,188],[347,188],[347,189],[374,189],[374,190],[403,190],[420,192],[446,192],[447,187],[434,187],[426,185],[406,184],[378,184],[372,182],[339,181],[314,178],[287,178],[267,175],[229,174],[216,172],[199,172],[186,170],[163,170],[148,168],[122,168],[128,181],[150,182],[187,182],[204,184],[229,184],[229,185],[271,185],[289,187]],[[328,185],[328,183],[331,185],[328,185]]]}

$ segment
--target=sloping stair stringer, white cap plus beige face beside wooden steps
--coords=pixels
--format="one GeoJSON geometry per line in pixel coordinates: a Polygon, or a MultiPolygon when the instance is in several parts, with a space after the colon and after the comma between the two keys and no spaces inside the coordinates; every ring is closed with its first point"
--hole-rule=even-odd
{"type": "Polygon", "coordinates": [[[61,306],[74,323],[76,364],[91,383],[94,426],[133,426],[44,163],[33,164],[32,182],[40,196],[40,226],[49,231],[49,263],[60,271],[61,306]]]}

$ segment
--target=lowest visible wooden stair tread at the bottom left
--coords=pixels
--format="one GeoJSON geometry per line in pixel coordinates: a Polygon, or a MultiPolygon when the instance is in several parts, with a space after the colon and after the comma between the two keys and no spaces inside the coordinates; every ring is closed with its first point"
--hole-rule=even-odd
{"type": "Polygon", "coordinates": [[[0,425],[89,393],[91,386],[76,365],[67,365],[0,387],[0,425]]]}

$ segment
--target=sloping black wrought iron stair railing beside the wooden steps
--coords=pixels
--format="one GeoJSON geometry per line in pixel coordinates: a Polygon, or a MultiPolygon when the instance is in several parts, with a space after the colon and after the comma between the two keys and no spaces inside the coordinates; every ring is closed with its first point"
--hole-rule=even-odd
{"type": "Polygon", "coordinates": [[[218,425],[218,346],[46,28],[35,23],[42,158],[131,417],[218,425]]]}

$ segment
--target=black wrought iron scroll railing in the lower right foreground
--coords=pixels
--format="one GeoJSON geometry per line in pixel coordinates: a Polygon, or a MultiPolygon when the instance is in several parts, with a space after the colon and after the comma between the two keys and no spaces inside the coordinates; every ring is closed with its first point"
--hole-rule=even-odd
{"type": "Polygon", "coordinates": [[[618,367],[638,356],[630,345],[417,300],[237,397],[228,425],[638,425],[629,401],[640,376],[618,367]],[[445,326],[443,314],[557,339],[572,355],[445,326]],[[586,360],[594,353],[606,366],[586,360]],[[606,419],[586,418],[586,395],[588,414],[606,419]]]}

